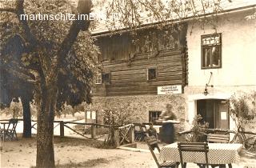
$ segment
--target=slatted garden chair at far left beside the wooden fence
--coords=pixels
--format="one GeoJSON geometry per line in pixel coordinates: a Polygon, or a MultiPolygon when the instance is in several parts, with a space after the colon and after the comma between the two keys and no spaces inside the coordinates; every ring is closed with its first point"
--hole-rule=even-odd
{"type": "Polygon", "coordinates": [[[9,120],[9,124],[7,126],[7,129],[6,130],[1,130],[2,137],[3,137],[3,134],[4,134],[4,138],[5,138],[4,140],[8,139],[8,140],[18,141],[17,133],[16,133],[17,124],[18,124],[18,119],[11,118],[9,120]]]}

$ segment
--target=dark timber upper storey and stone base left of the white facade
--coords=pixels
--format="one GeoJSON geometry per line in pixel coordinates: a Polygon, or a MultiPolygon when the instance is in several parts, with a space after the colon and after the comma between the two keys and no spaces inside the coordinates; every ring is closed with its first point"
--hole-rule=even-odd
{"type": "Polygon", "coordinates": [[[154,122],[166,105],[171,104],[174,113],[182,118],[185,114],[182,93],[187,84],[187,26],[180,27],[180,30],[145,28],[138,30],[136,36],[130,32],[112,36],[95,34],[102,52],[99,57],[102,73],[95,81],[89,113],[129,109],[134,115],[133,122],[154,122]]]}

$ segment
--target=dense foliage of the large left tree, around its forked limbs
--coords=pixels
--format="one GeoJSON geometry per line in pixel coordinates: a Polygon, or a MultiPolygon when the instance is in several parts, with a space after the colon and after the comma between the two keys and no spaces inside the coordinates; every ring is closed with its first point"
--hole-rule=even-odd
{"type": "MultiPolygon", "coordinates": [[[[6,6],[11,7],[14,6],[14,4],[10,2],[6,3],[6,6]]],[[[59,12],[74,13],[74,6],[67,0],[25,1],[24,6],[26,14],[29,15],[58,14],[59,12]]],[[[14,90],[14,86],[26,86],[22,89],[31,90],[31,87],[33,88],[36,86],[35,84],[39,82],[39,78],[37,78],[37,82],[35,81],[34,85],[27,87],[28,80],[34,80],[38,76],[37,73],[34,71],[32,73],[31,70],[38,71],[38,68],[41,67],[42,73],[48,74],[45,75],[46,83],[54,79],[54,74],[56,74],[54,66],[57,65],[57,54],[58,50],[60,50],[59,46],[61,46],[61,42],[66,37],[66,34],[68,34],[72,22],[70,20],[29,20],[28,24],[31,33],[34,34],[35,38],[37,38],[40,43],[39,47],[34,47],[34,44],[31,44],[29,40],[26,39],[26,32],[22,29],[15,14],[2,12],[0,20],[2,64],[12,68],[15,67],[14,70],[19,73],[21,73],[19,68],[22,67],[32,76],[32,78],[30,76],[24,78],[24,75],[13,75],[13,77],[11,77],[10,70],[5,69],[6,71],[2,71],[1,74],[6,74],[6,78],[12,78],[9,81],[14,82],[3,83],[1,86],[11,86],[10,90],[14,90]],[[17,67],[14,66],[12,62],[15,62],[17,67]],[[22,80],[22,83],[17,82],[17,80],[22,80]]],[[[62,67],[60,67],[58,74],[58,110],[62,109],[65,102],[71,106],[75,106],[84,101],[91,101],[90,87],[93,84],[94,73],[98,70],[98,66],[95,66],[98,54],[98,47],[94,45],[94,39],[90,37],[90,34],[88,34],[88,32],[79,34],[72,50],[70,50],[68,56],[62,60],[62,67]]],[[[14,92],[18,93],[17,90],[14,92]]],[[[13,98],[14,95],[10,95],[10,91],[8,90],[6,94],[10,97],[10,104],[11,98],[13,98]]],[[[18,97],[20,95],[15,96],[18,97]]]]}

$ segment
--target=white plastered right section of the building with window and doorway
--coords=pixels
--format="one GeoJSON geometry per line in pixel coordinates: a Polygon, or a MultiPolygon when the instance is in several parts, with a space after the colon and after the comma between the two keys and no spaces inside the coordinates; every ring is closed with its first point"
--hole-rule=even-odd
{"type": "Polygon", "coordinates": [[[256,90],[255,12],[254,2],[219,14],[218,22],[203,30],[189,22],[189,74],[184,95],[187,122],[202,114],[211,128],[234,129],[226,100],[256,90]]]}

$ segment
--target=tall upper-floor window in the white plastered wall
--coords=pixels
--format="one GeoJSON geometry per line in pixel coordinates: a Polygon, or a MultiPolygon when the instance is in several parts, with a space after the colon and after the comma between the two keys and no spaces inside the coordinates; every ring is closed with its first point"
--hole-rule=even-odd
{"type": "Polygon", "coordinates": [[[221,34],[202,35],[202,69],[220,68],[222,65],[221,34]]]}

